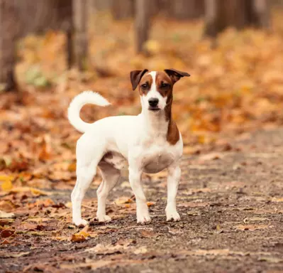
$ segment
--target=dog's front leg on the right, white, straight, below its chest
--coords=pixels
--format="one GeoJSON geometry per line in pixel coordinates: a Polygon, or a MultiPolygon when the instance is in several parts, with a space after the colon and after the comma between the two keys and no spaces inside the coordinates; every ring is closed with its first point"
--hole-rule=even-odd
{"type": "Polygon", "coordinates": [[[177,208],[176,208],[176,196],[177,196],[180,177],[181,177],[181,169],[179,168],[179,165],[174,164],[168,168],[167,206],[165,210],[167,221],[180,220],[180,216],[179,213],[177,213],[177,208]]]}

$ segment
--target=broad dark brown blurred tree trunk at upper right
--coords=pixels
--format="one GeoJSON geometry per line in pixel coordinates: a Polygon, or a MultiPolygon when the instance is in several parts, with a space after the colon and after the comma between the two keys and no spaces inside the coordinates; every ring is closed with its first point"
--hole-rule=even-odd
{"type": "Polygon", "coordinates": [[[228,26],[268,27],[270,3],[267,0],[206,0],[205,34],[216,36],[228,26]]]}

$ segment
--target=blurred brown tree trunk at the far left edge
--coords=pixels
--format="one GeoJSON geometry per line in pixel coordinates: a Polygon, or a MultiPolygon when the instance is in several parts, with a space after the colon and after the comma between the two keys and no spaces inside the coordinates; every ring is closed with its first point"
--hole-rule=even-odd
{"type": "Polygon", "coordinates": [[[0,90],[16,87],[15,40],[18,32],[16,9],[11,0],[0,0],[0,90]]]}

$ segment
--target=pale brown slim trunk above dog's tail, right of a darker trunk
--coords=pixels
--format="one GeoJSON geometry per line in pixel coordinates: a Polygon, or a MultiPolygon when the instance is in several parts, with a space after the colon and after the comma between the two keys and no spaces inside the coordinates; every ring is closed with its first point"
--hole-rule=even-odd
{"type": "Polygon", "coordinates": [[[87,0],[73,0],[74,58],[80,71],[86,69],[87,44],[87,0]]]}

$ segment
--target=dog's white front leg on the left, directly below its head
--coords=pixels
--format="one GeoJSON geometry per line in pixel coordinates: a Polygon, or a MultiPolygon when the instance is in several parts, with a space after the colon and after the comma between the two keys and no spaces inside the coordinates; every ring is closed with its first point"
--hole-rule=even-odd
{"type": "Polygon", "coordinates": [[[141,185],[142,171],[138,168],[129,167],[129,180],[133,193],[135,194],[135,202],[137,204],[137,221],[138,223],[150,222],[150,214],[148,213],[148,204],[146,203],[145,194],[141,185]]]}

